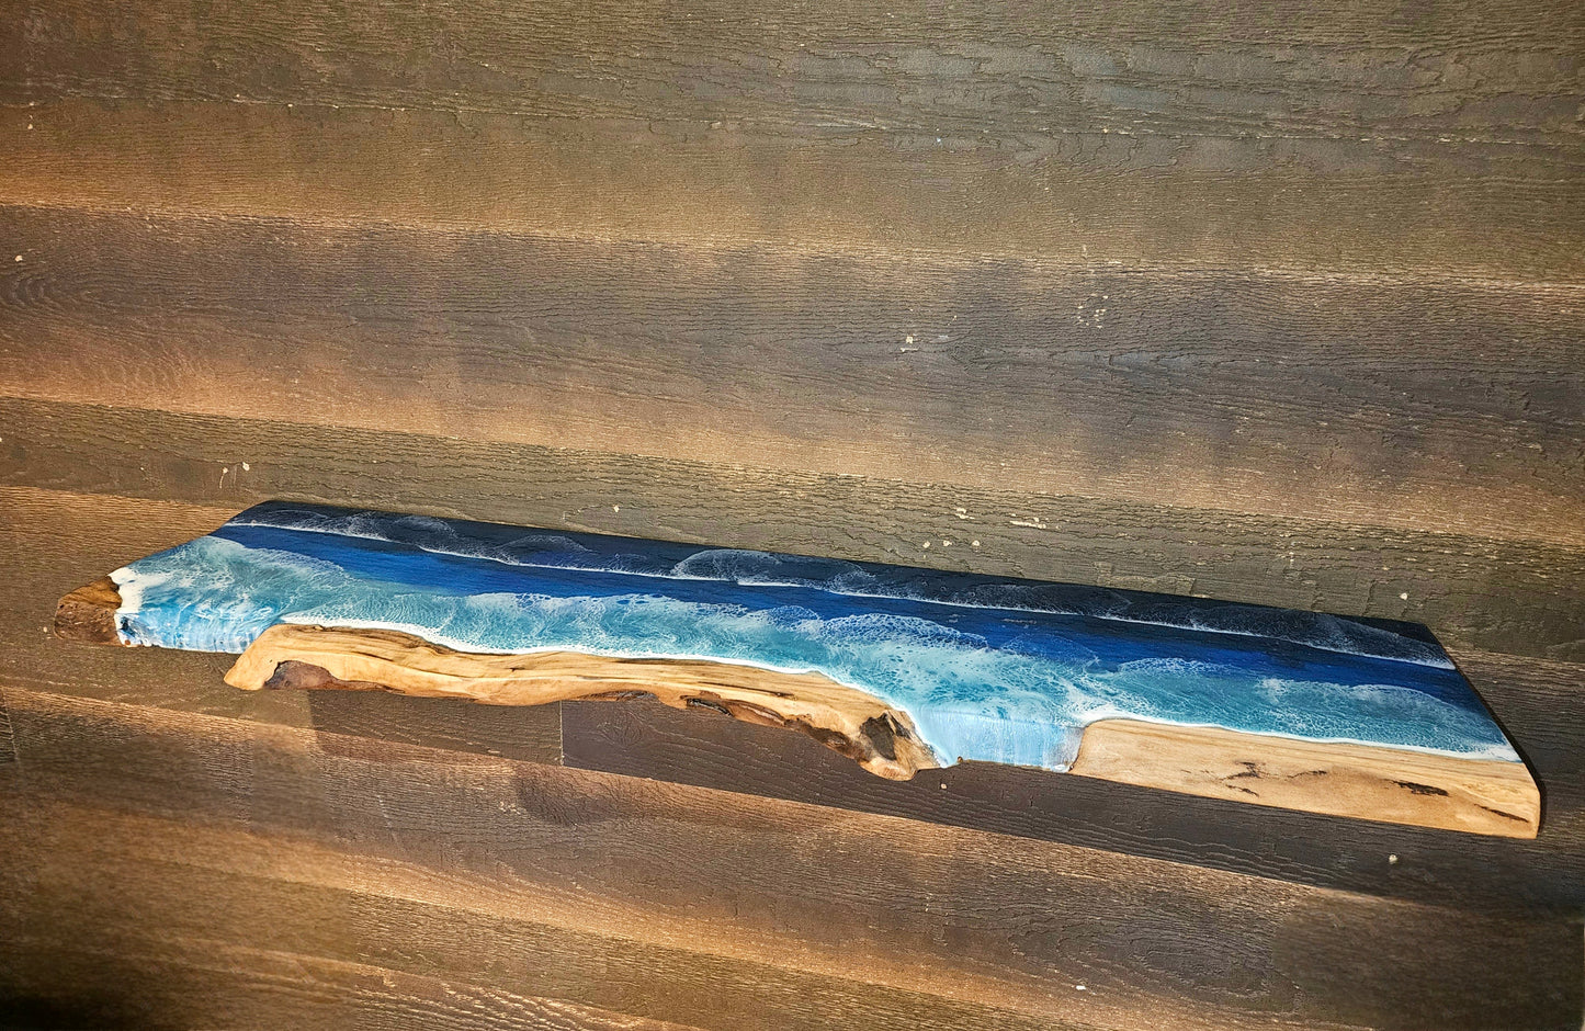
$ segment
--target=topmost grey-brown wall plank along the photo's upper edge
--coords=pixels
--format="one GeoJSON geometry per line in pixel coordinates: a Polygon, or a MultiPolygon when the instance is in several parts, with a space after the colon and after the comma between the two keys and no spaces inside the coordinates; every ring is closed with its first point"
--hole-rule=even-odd
{"type": "MultiPolygon", "coordinates": [[[[1005,146],[1103,127],[1160,136],[1580,143],[1585,36],[1558,0],[1409,16],[1213,0],[932,0],[883,8],[732,0],[466,6],[143,0],[136,19],[36,3],[0,29],[22,55],[0,98],[246,100],[536,117],[732,120],[764,133],[1005,146]],[[444,46],[434,46],[444,40],[444,46]]],[[[1030,146],[1030,144],[1024,144],[1030,146]]]]}

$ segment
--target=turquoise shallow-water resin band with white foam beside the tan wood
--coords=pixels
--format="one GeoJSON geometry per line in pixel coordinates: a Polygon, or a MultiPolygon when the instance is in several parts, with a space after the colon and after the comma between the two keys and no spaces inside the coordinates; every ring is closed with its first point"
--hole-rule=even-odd
{"type": "Polygon", "coordinates": [[[980,635],[916,616],[823,618],[799,605],[753,608],[663,592],[447,594],[214,537],[116,576],[127,589],[122,632],[135,643],[243,651],[284,621],[387,627],[460,651],[579,651],[818,671],[910,713],[922,740],[948,759],[1062,768],[1071,762],[1075,729],[1105,717],[1358,743],[1358,733],[1381,729],[1403,741],[1395,748],[1501,759],[1512,752],[1493,744],[1501,735],[1484,713],[1407,687],[1255,679],[1247,670],[1181,656],[1110,667],[1084,648],[1052,651],[1049,633],[1035,635],[1045,651],[1021,651],[1018,641],[991,648],[980,635]],[[1434,741],[1458,748],[1438,749],[1434,741]]]}

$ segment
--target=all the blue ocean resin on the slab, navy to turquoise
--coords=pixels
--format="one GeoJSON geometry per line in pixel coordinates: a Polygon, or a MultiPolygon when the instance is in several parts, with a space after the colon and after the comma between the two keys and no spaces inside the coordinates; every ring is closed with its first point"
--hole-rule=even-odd
{"type": "Polygon", "coordinates": [[[1407,622],[285,502],[111,576],[128,645],[241,652],[292,622],[823,673],[943,765],[1067,770],[1100,719],[1518,762],[1407,622]]]}

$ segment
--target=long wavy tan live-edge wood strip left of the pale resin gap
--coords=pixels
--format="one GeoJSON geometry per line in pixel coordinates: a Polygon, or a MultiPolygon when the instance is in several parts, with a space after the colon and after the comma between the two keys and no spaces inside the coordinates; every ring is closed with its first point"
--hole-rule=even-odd
{"type": "Polygon", "coordinates": [[[938,765],[908,714],[880,698],[818,673],[726,662],[479,654],[398,630],[279,624],[243,652],[225,681],[246,691],[393,691],[490,705],[653,697],[678,710],[802,730],[883,778],[905,781],[938,765]]]}

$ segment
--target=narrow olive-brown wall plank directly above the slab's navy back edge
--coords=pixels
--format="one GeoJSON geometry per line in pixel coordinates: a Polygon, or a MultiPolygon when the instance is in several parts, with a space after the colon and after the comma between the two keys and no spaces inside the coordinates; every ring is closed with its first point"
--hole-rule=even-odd
{"type": "MultiPolygon", "coordinates": [[[[3,398],[0,439],[0,485],[48,488],[40,504],[78,519],[97,496],[209,507],[160,546],[287,497],[1412,619],[1453,646],[1585,657],[1585,550],[1537,542],[3,398]]],[[[30,592],[38,633],[62,594],[154,550],[84,556],[30,592]]]]}

